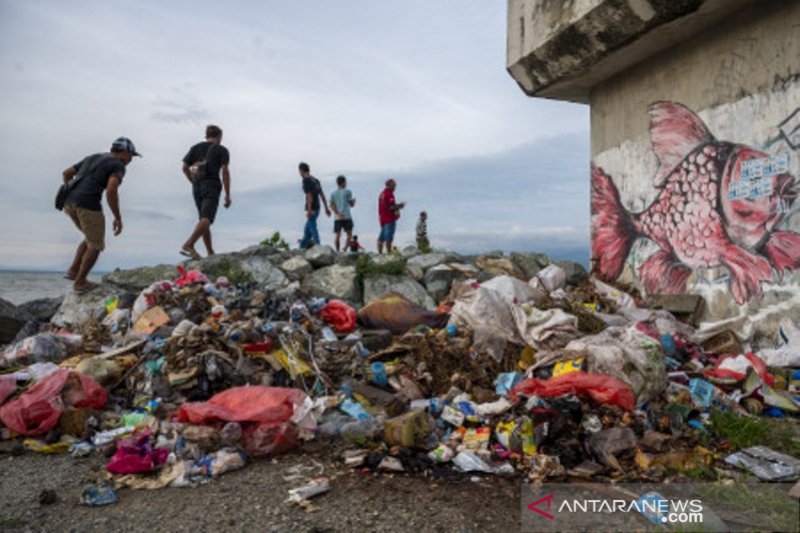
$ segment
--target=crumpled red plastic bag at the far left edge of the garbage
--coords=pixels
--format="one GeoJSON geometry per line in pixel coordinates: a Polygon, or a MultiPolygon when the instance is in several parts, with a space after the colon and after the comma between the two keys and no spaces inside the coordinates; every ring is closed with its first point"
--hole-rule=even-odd
{"type": "Polygon", "coordinates": [[[56,427],[67,407],[100,409],[106,390],[79,372],[61,369],[0,407],[0,420],[20,435],[40,435],[56,427]]]}

